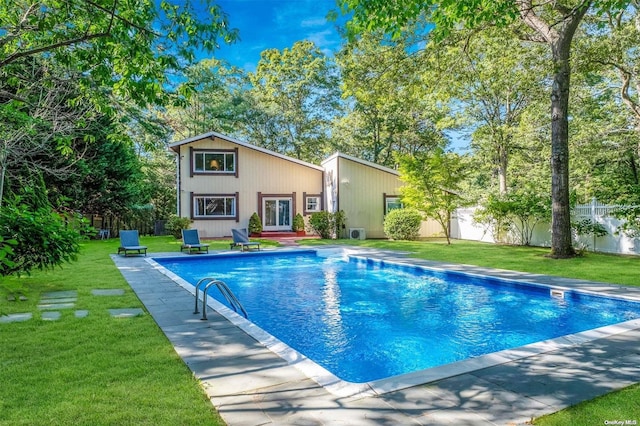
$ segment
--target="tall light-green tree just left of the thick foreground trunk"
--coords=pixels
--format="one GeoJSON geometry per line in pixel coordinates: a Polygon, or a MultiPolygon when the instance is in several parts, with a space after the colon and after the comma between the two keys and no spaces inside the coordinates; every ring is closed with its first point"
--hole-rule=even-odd
{"type": "Polygon", "coordinates": [[[471,148],[504,194],[510,188],[513,156],[529,148],[518,138],[521,118],[546,95],[540,78],[546,55],[501,28],[458,31],[455,40],[434,51],[441,90],[453,98],[461,126],[471,132],[471,148]]]}

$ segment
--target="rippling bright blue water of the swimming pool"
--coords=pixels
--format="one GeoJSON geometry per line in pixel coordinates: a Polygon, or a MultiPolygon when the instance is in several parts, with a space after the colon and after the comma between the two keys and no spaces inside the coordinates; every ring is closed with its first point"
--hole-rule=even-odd
{"type": "Polygon", "coordinates": [[[154,260],[224,281],[250,321],[356,383],[640,318],[640,303],[312,251],[154,260]]]}

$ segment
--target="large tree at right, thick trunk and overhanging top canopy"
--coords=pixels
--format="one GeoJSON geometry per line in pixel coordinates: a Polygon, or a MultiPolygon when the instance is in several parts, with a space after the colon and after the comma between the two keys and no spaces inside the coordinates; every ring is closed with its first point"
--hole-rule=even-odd
{"type": "Polygon", "coordinates": [[[575,255],[571,238],[569,203],[569,89],[570,53],[573,36],[590,8],[597,12],[623,9],[628,1],[579,0],[548,2],[534,0],[437,2],[408,0],[340,0],[343,12],[353,13],[348,23],[352,34],[382,28],[400,34],[403,28],[421,15],[435,24],[433,40],[451,34],[456,26],[481,29],[486,25],[507,26],[514,23],[524,39],[545,43],[551,52],[553,79],[551,87],[551,255],[575,255]]]}

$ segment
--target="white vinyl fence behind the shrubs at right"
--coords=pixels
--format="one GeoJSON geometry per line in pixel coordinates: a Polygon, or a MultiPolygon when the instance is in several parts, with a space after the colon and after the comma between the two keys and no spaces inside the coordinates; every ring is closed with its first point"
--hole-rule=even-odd
{"type": "MultiPolygon", "coordinates": [[[[589,251],[618,254],[640,254],[640,239],[629,238],[625,235],[617,235],[618,226],[623,221],[609,214],[618,206],[598,203],[593,200],[590,204],[576,206],[573,217],[577,220],[591,219],[599,223],[609,232],[604,237],[582,236],[576,241],[576,247],[587,247],[589,251]]],[[[494,243],[496,242],[483,224],[476,223],[473,219],[475,211],[479,207],[460,208],[451,218],[451,238],[462,240],[474,240],[494,243]]],[[[531,244],[541,247],[551,246],[551,226],[548,223],[539,223],[533,232],[531,244]]]]}

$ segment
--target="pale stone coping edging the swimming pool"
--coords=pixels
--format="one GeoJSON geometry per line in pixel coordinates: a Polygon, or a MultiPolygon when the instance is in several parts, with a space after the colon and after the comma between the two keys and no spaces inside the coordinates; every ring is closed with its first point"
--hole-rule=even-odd
{"type": "MultiPolygon", "coordinates": [[[[316,249],[292,249],[289,248],[286,252],[322,252],[322,251],[330,251],[332,253],[338,255],[352,256],[359,259],[380,261],[379,258],[373,256],[366,256],[367,254],[371,254],[368,251],[364,251],[361,249],[346,249],[343,248],[341,250],[336,250],[334,248],[324,249],[322,247],[316,249]],[[338,253],[337,253],[338,252],[338,253]]],[[[284,252],[284,251],[283,251],[284,252]]],[[[271,252],[272,253],[272,252],[271,252]]],[[[211,254],[206,257],[215,258],[216,256],[227,256],[228,253],[217,253],[211,254]]],[[[238,255],[238,254],[234,254],[238,255]]],[[[239,254],[242,256],[242,254],[239,254]]],[[[253,253],[253,255],[259,256],[259,253],[253,253]]],[[[323,254],[324,256],[324,254],[323,254]]],[[[159,256],[156,256],[156,258],[159,256]]],[[[164,257],[164,256],[163,256],[164,257]]],[[[205,256],[201,256],[205,257],[205,256]]],[[[173,281],[175,281],[178,285],[180,285],[185,290],[189,291],[191,294],[195,295],[193,284],[185,281],[180,276],[171,272],[170,270],[164,268],[162,265],[153,260],[153,257],[145,259],[151,266],[159,271],[160,273],[168,276],[173,281]]],[[[402,266],[421,266],[424,268],[428,268],[434,271],[446,272],[450,271],[441,267],[433,267],[427,265],[419,265],[416,259],[405,259],[402,261],[398,259],[389,260],[385,259],[385,263],[391,265],[402,265],[402,266]]],[[[459,265],[460,267],[464,267],[465,265],[459,265]]],[[[517,279],[517,278],[504,278],[498,277],[495,274],[480,274],[477,271],[470,272],[462,272],[460,270],[456,271],[458,273],[466,274],[471,277],[479,277],[479,278],[497,278],[498,280],[507,280],[510,282],[519,282],[522,284],[532,285],[536,287],[548,288],[551,290],[561,290],[561,291],[579,291],[583,294],[591,294],[591,295],[599,295],[599,296],[607,296],[609,298],[614,299],[622,299],[622,300],[631,300],[634,302],[640,302],[640,292],[636,297],[623,297],[619,294],[617,295],[609,295],[606,291],[589,291],[583,289],[575,289],[571,286],[569,281],[565,281],[563,285],[550,285],[544,284],[536,281],[535,277],[527,274],[527,278],[517,279]]],[[[490,272],[490,271],[489,271],[490,272]]],[[[541,276],[542,277],[542,276],[541,276]]],[[[579,280],[576,280],[579,281],[579,280]]],[[[202,292],[200,291],[200,297],[202,297],[202,292]]],[[[550,352],[553,350],[570,348],[575,345],[591,342],[593,340],[597,340],[603,337],[612,336],[615,334],[623,333],[625,331],[640,329],[640,319],[629,320],[621,323],[616,323],[608,326],[598,327],[595,329],[586,330],[583,332],[568,334],[564,336],[559,336],[551,339],[546,339],[539,342],[534,342],[528,345],[519,346],[516,348],[504,349],[501,351],[491,352],[484,355],[479,355],[476,357],[472,357],[465,360],[460,360],[444,365],[439,365],[435,367],[431,367],[428,369],[423,369],[419,371],[414,371],[410,373],[405,373],[401,375],[396,375],[392,377],[386,377],[379,380],[373,380],[368,382],[350,382],[347,380],[340,379],[321,365],[317,364],[313,360],[309,359],[304,354],[298,352],[296,349],[290,347],[286,343],[282,342],[278,338],[274,337],[267,331],[263,330],[259,326],[252,323],[250,320],[242,317],[237,312],[228,308],[224,304],[218,302],[214,298],[207,298],[207,305],[214,309],[216,312],[224,316],[229,322],[234,324],[236,327],[243,330],[245,333],[256,339],[258,342],[263,344],[267,349],[274,352],[276,355],[287,361],[289,364],[294,365],[297,369],[302,371],[307,377],[318,383],[320,386],[324,387],[327,391],[332,394],[340,397],[369,397],[382,395],[389,392],[394,392],[402,389],[406,389],[413,386],[418,385],[426,385],[431,382],[435,382],[438,380],[447,379],[449,377],[459,376],[464,373],[469,373],[475,370],[480,370],[483,368],[493,367],[500,364],[505,364],[511,361],[517,361],[523,358],[528,358],[533,355],[539,355],[541,353],[550,352]]]]}

